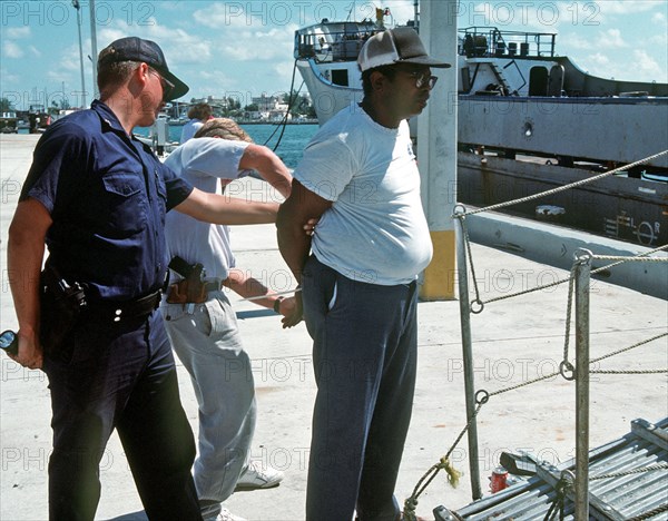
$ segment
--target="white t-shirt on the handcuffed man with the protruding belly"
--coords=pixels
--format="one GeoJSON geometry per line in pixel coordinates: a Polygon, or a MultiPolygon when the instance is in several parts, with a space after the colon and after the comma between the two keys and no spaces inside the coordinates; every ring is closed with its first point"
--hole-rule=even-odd
{"type": "Polygon", "coordinates": [[[294,177],[333,201],[312,249],[342,275],[380,285],[414,281],[432,257],[409,125],[376,124],[352,105],[311,140],[294,177]]]}

